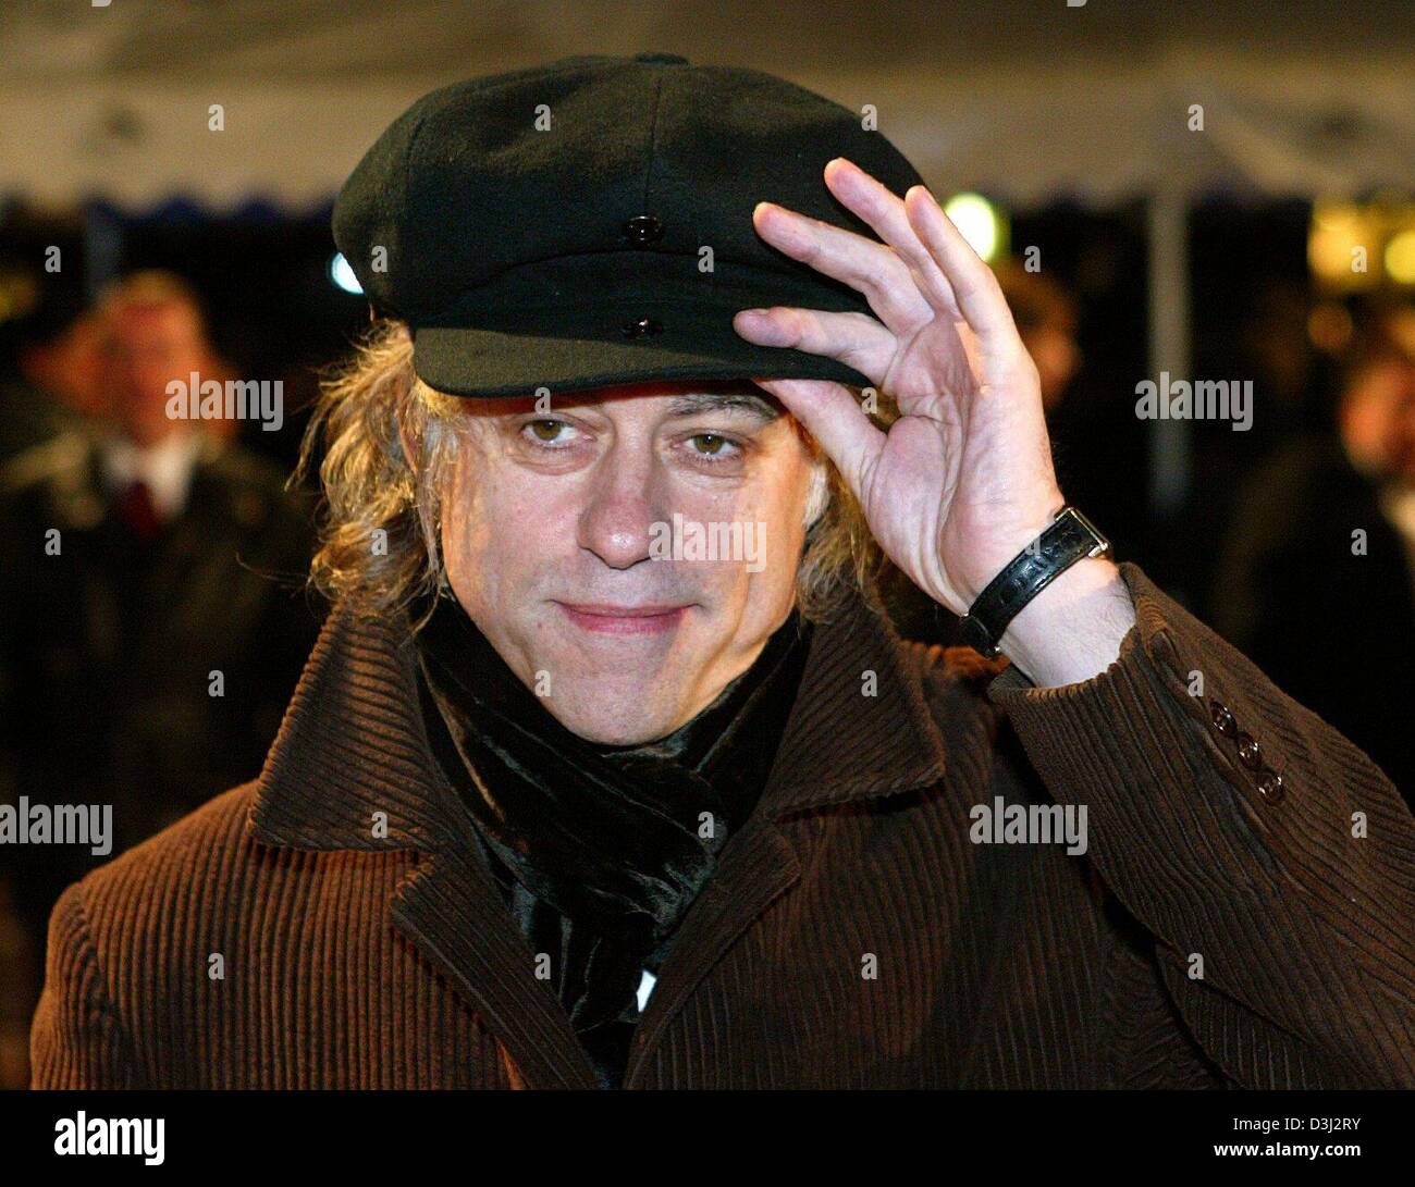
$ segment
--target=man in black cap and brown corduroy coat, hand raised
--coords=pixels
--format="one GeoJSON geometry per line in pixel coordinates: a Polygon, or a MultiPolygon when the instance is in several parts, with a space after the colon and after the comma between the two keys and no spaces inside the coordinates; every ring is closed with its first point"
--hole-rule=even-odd
{"type": "Polygon", "coordinates": [[[40,1085],[1415,1082],[1411,816],[1057,515],[877,133],[570,59],[424,98],[334,225],[388,318],[340,606],[262,778],[57,907],[40,1085]],[[872,536],[1010,665],[900,644],[872,536]]]}

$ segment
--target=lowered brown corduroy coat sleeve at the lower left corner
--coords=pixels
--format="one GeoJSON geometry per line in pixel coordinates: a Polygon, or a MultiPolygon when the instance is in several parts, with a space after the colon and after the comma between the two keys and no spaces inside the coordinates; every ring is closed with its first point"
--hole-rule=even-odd
{"type": "Polygon", "coordinates": [[[50,917],[44,992],[30,1029],[30,1087],[133,1088],[130,1067],[89,935],[83,884],[76,883],[50,917]]]}

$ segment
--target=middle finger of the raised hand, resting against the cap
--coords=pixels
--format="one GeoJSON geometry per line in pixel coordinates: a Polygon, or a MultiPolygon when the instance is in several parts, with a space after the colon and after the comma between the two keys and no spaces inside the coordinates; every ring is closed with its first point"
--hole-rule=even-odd
{"type": "Polygon", "coordinates": [[[775,202],[757,202],[751,221],[777,250],[863,293],[886,325],[913,325],[930,317],[908,266],[883,243],[775,202]]]}

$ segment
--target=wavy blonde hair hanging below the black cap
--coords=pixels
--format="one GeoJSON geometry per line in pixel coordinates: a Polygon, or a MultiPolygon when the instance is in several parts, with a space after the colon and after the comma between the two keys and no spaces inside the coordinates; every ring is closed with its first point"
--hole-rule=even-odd
{"type": "MultiPolygon", "coordinates": [[[[877,419],[887,424],[896,415],[889,406],[877,419]]],[[[423,598],[430,604],[430,596],[446,589],[441,491],[463,416],[461,399],[417,378],[402,321],[374,323],[352,357],[324,376],[291,481],[314,468],[323,448],[320,546],[310,583],[331,601],[386,615],[423,598]]],[[[797,608],[822,621],[855,593],[879,608],[879,546],[835,464],[807,440],[819,468],[808,499],[797,608]]]]}

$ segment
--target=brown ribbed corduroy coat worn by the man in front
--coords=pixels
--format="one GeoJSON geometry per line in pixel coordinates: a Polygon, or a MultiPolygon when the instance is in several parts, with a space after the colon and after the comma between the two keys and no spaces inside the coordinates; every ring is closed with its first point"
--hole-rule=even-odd
{"type": "MultiPolygon", "coordinates": [[[[1415,1085],[1415,821],[1122,574],[1136,630],[1060,689],[818,630],[627,1087],[1415,1085]],[[996,797],[1085,805],[1088,852],[976,842],[996,797]]],[[[58,903],[35,1084],[593,1087],[468,828],[406,631],[335,613],[260,780],[58,903]]]]}

